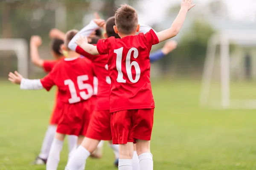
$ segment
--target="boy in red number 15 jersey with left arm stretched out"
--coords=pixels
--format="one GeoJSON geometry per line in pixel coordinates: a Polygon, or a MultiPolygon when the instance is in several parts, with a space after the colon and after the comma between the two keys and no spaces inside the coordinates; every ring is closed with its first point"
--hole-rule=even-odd
{"type": "Polygon", "coordinates": [[[90,98],[93,96],[93,65],[90,60],[79,58],[80,54],[70,51],[67,46],[70,37],[76,33],[73,30],[67,32],[63,47],[67,51],[67,58],[58,62],[43,79],[24,79],[17,72],[9,73],[9,80],[20,84],[21,89],[45,88],[49,91],[53,85],[58,87],[62,112],[47,160],[47,170],[57,170],[65,135],[81,135],[83,138],[92,113],[90,98]]]}

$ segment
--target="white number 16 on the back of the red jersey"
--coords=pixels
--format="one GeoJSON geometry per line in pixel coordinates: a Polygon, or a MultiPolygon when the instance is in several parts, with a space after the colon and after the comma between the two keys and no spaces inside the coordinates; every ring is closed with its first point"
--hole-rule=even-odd
{"type": "MultiPolygon", "coordinates": [[[[128,54],[126,56],[125,66],[126,66],[126,72],[127,72],[128,79],[131,82],[136,83],[140,79],[140,65],[136,61],[131,62],[131,53],[132,53],[132,51],[134,51],[134,56],[133,57],[135,59],[139,55],[139,51],[138,51],[137,48],[131,48],[128,51],[128,54]],[[135,71],[136,71],[135,79],[133,79],[132,74],[131,74],[131,67],[132,66],[134,66],[135,71]]],[[[117,75],[117,79],[116,79],[117,82],[126,82],[126,80],[123,78],[123,73],[122,73],[122,52],[123,52],[123,47],[114,50],[114,53],[116,53],[116,69],[118,71],[118,75],[117,75]]]]}

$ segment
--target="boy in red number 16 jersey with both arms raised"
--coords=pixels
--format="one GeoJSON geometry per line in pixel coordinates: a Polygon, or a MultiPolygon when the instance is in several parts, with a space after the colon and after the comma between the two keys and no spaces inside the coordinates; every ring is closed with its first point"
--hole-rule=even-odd
{"type": "Polygon", "coordinates": [[[175,37],[182,27],[192,0],[183,0],[171,28],[155,33],[140,30],[137,12],[121,6],[115,14],[114,30],[121,39],[99,40],[97,46],[81,37],[76,43],[93,55],[108,54],[111,79],[110,111],[113,144],[119,144],[119,170],[132,170],[133,143],[136,143],[141,170],[153,170],[150,139],[154,117],[154,99],[150,83],[149,52],[154,44],[175,37]]]}

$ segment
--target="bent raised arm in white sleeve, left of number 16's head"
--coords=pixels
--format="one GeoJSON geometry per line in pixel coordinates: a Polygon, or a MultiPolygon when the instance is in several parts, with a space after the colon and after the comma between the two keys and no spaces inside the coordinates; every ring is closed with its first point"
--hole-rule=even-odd
{"type": "Polygon", "coordinates": [[[96,29],[101,28],[101,26],[103,26],[105,24],[105,20],[102,19],[95,19],[92,20],[87,26],[85,26],[84,28],[82,28],[73,38],[72,40],[69,42],[68,47],[72,50],[72,51],[76,51],[76,40],[79,39],[79,35],[81,35],[82,37],[89,37],[90,34],[93,33],[93,31],[95,31],[96,29]]]}

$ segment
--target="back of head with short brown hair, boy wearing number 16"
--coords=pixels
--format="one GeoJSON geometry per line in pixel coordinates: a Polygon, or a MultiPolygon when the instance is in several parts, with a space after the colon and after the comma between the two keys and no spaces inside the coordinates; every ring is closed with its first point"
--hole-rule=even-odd
{"type": "Polygon", "coordinates": [[[116,28],[120,33],[131,34],[136,31],[138,26],[137,11],[128,5],[121,5],[115,14],[116,28]]]}

